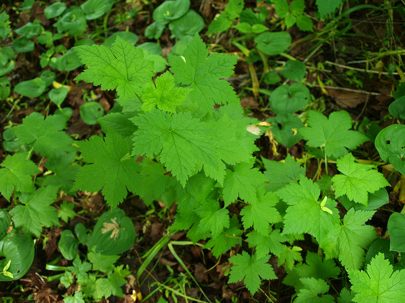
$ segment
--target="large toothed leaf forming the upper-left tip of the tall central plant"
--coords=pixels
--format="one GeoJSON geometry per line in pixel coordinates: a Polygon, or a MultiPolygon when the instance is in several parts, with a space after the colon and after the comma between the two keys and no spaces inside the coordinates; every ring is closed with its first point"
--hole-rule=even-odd
{"type": "Polygon", "coordinates": [[[82,45],[72,48],[81,62],[89,65],[75,80],[101,85],[102,90],[117,89],[119,101],[124,103],[135,94],[141,95],[143,86],[153,76],[153,61],[145,60],[143,50],[117,36],[113,46],[82,45]]]}

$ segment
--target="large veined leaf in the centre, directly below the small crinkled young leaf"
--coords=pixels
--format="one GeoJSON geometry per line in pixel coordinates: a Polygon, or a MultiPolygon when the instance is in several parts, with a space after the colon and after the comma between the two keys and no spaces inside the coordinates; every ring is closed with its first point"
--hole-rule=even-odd
{"type": "Polygon", "coordinates": [[[138,125],[134,133],[133,155],[153,156],[160,153],[160,162],[185,186],[197,162],[218,167],[212,139],[215,135],[205,122],[190,113],[169,115],[157,109],[130,119],[138,125]]]}

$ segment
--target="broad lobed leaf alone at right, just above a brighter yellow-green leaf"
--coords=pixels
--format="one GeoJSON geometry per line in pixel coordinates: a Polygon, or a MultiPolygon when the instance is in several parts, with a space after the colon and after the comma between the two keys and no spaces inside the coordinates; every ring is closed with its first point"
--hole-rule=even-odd
{"type": "Polygon", "coordinates": [[[355,149],[369,140],[358,131],[350,130],[352,118],[344,110],[331,113],[329,119],[311,110],[307,123],[309,127],[300,128],[298,131],[305,140],[308,140],[307,145],[324,148],[328,157],[345,156],[346,148],[355,149]]]}

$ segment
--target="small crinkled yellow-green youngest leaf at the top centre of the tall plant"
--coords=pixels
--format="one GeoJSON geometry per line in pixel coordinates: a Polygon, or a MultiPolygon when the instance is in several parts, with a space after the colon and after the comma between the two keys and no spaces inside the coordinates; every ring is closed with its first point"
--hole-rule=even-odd
{"type": "Polygon", "coordinates": [[[176,112],[176,106],[184,101],[190,93],[190,89],[174,87],[174,79],[170,72],[165,72],[156,78],[155,84],[149,82],[142,95],[145,103],[140,109],[150,112],[152,108],[157,106],[158,109],[165,112],[176,112]]]}

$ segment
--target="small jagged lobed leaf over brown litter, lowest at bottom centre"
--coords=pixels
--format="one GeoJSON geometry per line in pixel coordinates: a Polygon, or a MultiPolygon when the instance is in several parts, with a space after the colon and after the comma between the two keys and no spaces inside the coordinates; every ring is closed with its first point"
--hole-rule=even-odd
{"type": "Polygon", "coordinates": [[[244,282],[251,294],[254,294],[260,287],[260,278],[265,280],[277,279],[273,267],[267,261],[269,256],[258,259],[256,255],[252,257],[246,251],[229,258],[233,263],[230,270],[228,283],[238,281],[244,282]]]}

